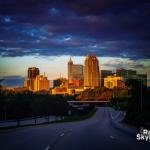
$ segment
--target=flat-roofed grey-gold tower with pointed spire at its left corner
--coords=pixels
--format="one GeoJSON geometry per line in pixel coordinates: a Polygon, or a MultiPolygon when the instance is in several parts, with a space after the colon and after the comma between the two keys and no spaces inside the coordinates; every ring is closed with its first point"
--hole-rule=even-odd
{"type": "Polygon", "coordinates": [[[68,61],[68,83],[76,83],[83,80],[83,65],[73,64],[73,61],[68,61]]]}

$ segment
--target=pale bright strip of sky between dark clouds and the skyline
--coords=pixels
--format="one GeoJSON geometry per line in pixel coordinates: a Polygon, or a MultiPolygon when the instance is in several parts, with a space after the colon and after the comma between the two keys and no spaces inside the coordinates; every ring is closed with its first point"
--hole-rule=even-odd
{"type": "MultiPolygon", "coordinates": [[[[22,76],[22,77],[27,77],[27,73],[26,70],[29,67],[38,67],[41,70],[41,74],[44,74],[44,72],[47,74],[47,76],[49,77],[49,79],[53,79],[56,77],[66,77],[67,78],[67,61],[69,58],[72,58],[73,61],[75,62],[75,64],[84,64],[84,59],[85,56],[82,57],[77,57],[77,56],[59,56],[59,57],[26,57],[25,58],[25,62],[24,59],[22,59],[21,57],[17,57],[14,58],[16,59],[16,62],[13,62],[13,58],[11,58],[10,60],[10,64],[6,63],[8,60],[2,60],[1,63],[1,74],[0,77],[7,77],[7,76],[22,76]],[[41,58],[41,60],[43,61],[43,64],[40,64],[39,58],[41,58]],[[27,61],[28,59],[28,61],[27,61]],[[21,64],[18,64],[18,63],[21,64]],[[22,64],[24,62],[24,64],[22,64]],[[53,68],[53,72],[56,73],[53,75],[53,72],[50,71],[53,66],[53,63],[55,63],[56,67],[56,71],[53,68]],[[62,66],[60,67],[60,64],[62,64],[62,66]],[[18,68],[13,68],[16,65],[18,65],[18,68]],[[13,66],[11,69],[11,66],[13,66]],[[22,67],[24,66],[24,67],[22,67]],[[58,66],[58,67],[57,67],[58,66]],[[49,69],[50,68],[50,69],[49,69]],[[58,71],[59,70],[59,71],[58,71]],[[8,72],[6,72],[8,71],[8,72]]],[[[146,73],[149,74],[149,68],[148,68],[148,62],[147,61],[133,61],[131,59],[128,58],[119,58],[119,57],[97,57],[99,60],[99,63],[101,65],[102,70],[111,70],[111,71],[115,71],[116,68],[124,68],[124,69],[132,69],[132,70],[137,70],[139,73],[146,73]],[[141,65],[146,65],[146,68],[141,68],[141,65]]]]}

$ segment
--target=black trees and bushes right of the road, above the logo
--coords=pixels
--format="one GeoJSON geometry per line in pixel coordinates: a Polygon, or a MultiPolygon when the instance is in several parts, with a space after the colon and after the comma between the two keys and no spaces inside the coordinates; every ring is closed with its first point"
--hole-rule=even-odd
{"type": "Polygon", "coordinates": [[[126,111],[125,122],[150,128],[150,88],[137,79],[127,80],[126,85],[129,87],[129,97],[113,98],[111,106],[126,111]]]}

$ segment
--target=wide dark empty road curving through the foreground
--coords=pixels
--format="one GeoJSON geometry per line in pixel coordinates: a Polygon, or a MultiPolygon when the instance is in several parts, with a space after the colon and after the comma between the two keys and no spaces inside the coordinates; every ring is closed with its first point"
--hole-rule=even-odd
{"type": "Polygon", "coordinates": [[[0,133],[0,150],[150,150],[134,129],[120,126],[123,113],[98,108],[90,119],[0,133]]]}

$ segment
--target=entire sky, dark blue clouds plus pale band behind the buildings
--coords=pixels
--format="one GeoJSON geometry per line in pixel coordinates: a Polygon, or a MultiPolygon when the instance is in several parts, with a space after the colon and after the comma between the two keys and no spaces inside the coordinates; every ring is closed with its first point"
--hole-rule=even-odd
{"type": "Polygon", "coordinates": [[[49,79],[67,61],[96,54],[102,69],[136,69],[150,78],[148,0],[1,0],[0,76],[39,67],[49,79]]]}

